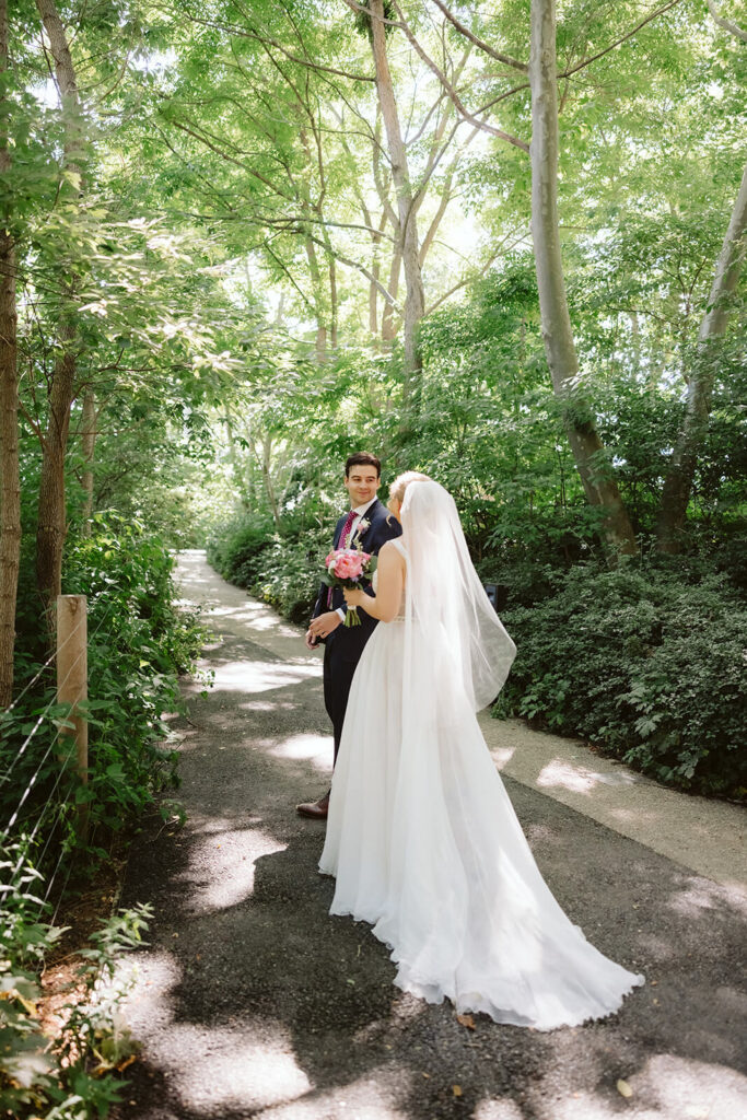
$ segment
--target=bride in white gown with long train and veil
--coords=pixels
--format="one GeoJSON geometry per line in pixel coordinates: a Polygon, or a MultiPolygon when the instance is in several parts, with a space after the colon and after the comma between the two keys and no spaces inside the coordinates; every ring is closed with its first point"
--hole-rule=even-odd
{"type": "Polygon", "coordinates": [[[642,976],[608,960],[540,875],[476,712],[515,646],[483,589],[451,495],[392,486],[402,536],[381,550],[376,627],[353,681],[319,869],[332,914],[372,923],[394,982],[457,1011],[551,1029],[616,1010],[642,976]]]}

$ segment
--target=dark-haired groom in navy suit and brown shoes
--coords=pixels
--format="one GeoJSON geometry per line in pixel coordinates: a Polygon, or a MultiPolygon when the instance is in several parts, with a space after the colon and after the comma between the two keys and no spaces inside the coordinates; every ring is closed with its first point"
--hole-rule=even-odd
{"type": "MultiPolygon", "coordinates": [[[[364,552],[376,556],[382,544],[401,534],[399,521],[390,516],[386,506],[376,497],[380,485],[381,463],[375,455],[358,451],[348,457],[345,463],[345,489],[349,495],[351,510],[337,522],[333,548],[356,548],[360,544],[364,552]]],[[[306,632],[309,650],[319,642],[325,643],[324,696],[335,731],[335,762],[353,674],[376,625],[376,619],[360,607],[361,625],[344,626],[346,610],[342,590],[323,584],[306,632]]],[[[301,816],[325,820],[328,805],[329,793],[326,793],[319,801],[297,805],[296,810],[301,816]]]]}

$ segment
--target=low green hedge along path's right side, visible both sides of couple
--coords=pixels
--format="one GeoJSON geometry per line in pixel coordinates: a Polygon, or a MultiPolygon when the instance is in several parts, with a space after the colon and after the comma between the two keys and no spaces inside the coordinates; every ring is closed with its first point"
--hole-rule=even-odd
{"type": "MultiPolygon", "coordinates": [[[[302,623],[330,533],[236,522],[211,541],[208,559],[302,623]]],[[[614,571],[600,560],[560,568],[484,558],[480,576],[499,585],[519,647],[495,715],[590,739],[667,785],[743,796],[747,608],[737,569],[719,566],[715,554],[614,571]]]]}

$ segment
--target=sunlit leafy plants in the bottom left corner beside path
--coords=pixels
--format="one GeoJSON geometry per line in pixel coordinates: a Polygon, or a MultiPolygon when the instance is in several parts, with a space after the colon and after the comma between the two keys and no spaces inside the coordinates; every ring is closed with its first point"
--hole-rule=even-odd
{"type": "MultiPolygon", "coordinates": [[[[18,843],[0,841],[3,872],[19,861],[27,885],[41,881],[18,843]]],[[[39,1023],[39,977],[65,928],[40,920],[45,908],[20,888],[4,899],[0,916],[0,1112],[16,1120],[94,1120],[121,1101],[118,1067],[137,1049],[121,1023],[130,982],[118,979],[118,964],[123,952],[143,944],[151,907],[101,922],[80,953],[75,998],[56,1010],[63,1027],[54,1039],[39,1023]]]]}

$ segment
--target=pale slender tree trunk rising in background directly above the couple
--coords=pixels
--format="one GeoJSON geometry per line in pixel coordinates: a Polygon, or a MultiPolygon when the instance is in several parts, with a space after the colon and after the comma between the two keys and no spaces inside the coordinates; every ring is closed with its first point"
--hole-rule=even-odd
{"type": "MultiPolygon", "coordinates": [[[[407,296],[404,301],[404,410],[405,413],[417,409],[422,375],[422,356],[418,343],[418,327],[426,311],[426,296],[420,271],[420,253],[418,246],[418,223],[413,206],[412,186],[408,168],[408,156],[402,140],[400,116],[394,100],[392,75],[386,57],[386,34],[384,28],[383,0],[371,0],[371,32],[374,66],[376,69],[376,90],[381,105],[389,158],[392,165],[392,181],[396,194],[396,208],[400,220],[399,248],[404,264],[407,296]]],[[[405,418],[407,423],[407,418],[405,418]]]]}

